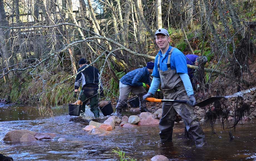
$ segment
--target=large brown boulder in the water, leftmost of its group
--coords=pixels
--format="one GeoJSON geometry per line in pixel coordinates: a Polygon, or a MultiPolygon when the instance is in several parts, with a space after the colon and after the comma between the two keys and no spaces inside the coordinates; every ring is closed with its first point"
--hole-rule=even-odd
{"type": "Polygon", "coordinates": [[[34,131],[28,131],[28,130],[12,130],[6,133],[6,135],[3,138],[3,141],[9,141],[9,142],[19,142],[19,139],[24,134],[31,134],[34,136],[36,132],[34,131]]]}

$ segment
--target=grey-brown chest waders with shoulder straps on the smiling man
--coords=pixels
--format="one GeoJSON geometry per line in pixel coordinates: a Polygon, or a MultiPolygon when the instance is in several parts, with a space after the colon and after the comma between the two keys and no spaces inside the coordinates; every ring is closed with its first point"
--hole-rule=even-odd
{"type": "MultiPolygon", "coordinates": [[[[171,69],[170,59],[173,50],[174,47],[172,47],[168,53],[168,70],[160,70],[160,55],[157,61],[157,68],[161,79],[161,87],[164,91],[164,99],[189,100],[179,74],[176,73],[176,70],[171,69]]],[[[193,137],[196,145],[205,142],[205,135],[191,106],[183,103],[164,102],[162,109],[162,118],[159,122],[159,134],[161,141],[172,141],[174,121],[176,119],[176,115],[179,114],[186,125],[186,130],[193,137]]]]}

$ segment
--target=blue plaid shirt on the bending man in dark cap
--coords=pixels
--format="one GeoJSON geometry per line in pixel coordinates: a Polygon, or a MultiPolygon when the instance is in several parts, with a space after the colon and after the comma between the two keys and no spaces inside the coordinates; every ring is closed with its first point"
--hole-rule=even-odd
{"type": "Polygon", "coordinates": [[[128,86],[142,86],[142,83],[146,83],[150,86],[151,83],[149,75],[147,67],[138,68],[128,72],[120,79],[120,81],[124,85],[128,86]]]}

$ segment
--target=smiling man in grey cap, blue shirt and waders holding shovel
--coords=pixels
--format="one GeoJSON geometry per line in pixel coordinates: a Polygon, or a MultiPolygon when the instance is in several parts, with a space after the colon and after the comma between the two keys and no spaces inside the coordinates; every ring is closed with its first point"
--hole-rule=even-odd
{"type": "Polygon", "coordinates": [[[169,45],[171,38],[166,29],[158,29],[155,38],[160,50],[156,55],[151,86],[143,99],[152,97],[161,83],[164,99],[187,100],[187,104],[163,103],[162,118],[159,122],[161,141],[172,141],[174,121],[178,113],[196,146],[202,147],[205,144],[205,134],[192,107],[195,106],[196,99],[188,76],[186,57],[180,50],[169,45]]]}

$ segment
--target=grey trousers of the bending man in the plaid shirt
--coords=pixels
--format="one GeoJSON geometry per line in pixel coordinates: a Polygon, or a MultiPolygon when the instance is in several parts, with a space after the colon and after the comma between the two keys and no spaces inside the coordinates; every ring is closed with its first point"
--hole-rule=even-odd
{"type": "Polygon", "coordinates": [[[147,94],[145,88],[142,86],[128,86],[124,85],[121,82],[119,82],[119,100],[116,105],[116,109],[122,109],[125,103],[127,102],[127,99],[129,97],[130,93],[134,93],[139,97],[140,100],[140,108],[146,108],[146,102],[143,101],[142,96],[144,94],[147,94]]]}

